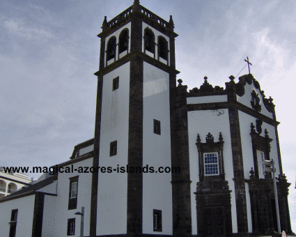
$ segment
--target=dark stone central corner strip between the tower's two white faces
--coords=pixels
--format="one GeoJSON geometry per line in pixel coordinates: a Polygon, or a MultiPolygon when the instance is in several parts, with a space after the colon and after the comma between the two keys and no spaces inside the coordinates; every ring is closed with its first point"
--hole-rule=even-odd
{"type": "MultiPolygon", "coordinates": [[[[127,163],[143,167],[143,60],[130,61],[130,107],[127,163]]],[[[142,234],[143,174],[127,174],[127,234],[142,234]]]]}

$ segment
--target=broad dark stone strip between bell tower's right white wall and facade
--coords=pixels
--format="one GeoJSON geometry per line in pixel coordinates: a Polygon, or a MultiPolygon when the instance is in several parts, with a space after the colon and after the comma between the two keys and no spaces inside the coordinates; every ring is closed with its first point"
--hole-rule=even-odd
{"type": "MultiPolygon", "coordinates": [[[[174,75],[176,78],[176,75],[174,75]]],[[[171,75],[173,79],[173,75],[171,75]]],[[[173,82],[173,80],[172,80],[173,82]]],[[[176,81],[174,81],[176,82],[176,81]]],[[[171,166],[180,167],[172,173],[173,235],[192,236],[191,189],[189,170],[187,86],[175,86],[171,91],[171,166]]]]}

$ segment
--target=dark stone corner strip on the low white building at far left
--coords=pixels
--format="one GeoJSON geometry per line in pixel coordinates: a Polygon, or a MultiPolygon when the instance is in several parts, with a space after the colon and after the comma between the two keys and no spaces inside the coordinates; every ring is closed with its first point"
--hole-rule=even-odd
{"type": "Polygon", "coordinates": [[[32,237],[39,237],[42,233],[44,196],[44,193],[36,192],[33,213],[32,237]]]}

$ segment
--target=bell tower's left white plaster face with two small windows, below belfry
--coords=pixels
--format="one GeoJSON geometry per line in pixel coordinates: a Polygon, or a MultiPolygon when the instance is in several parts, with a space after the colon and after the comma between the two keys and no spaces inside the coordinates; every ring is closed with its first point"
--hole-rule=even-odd
{"type": "MultiPolygon", "coordinates": [[[[100,167],[126,167],[129,127],[130,62],[103,77],[100,131],[100,167]],[[112,91],[113,79],[119,87],[112,91]],[[117,140],[117,155],[109,156],[117,140]]],[[[127,233],[127,173],[100,173],[98,177],[97,235],[127,233]],[[116,224],[114,224],[116,223],[116,224]]]]}

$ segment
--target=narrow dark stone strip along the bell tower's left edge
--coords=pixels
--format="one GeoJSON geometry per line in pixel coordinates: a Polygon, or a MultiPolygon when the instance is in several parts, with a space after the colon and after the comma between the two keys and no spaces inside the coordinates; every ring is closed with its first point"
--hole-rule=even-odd
{"type": "MultiPolygon", "coordinates": [[[[100,132],[102,116],[103,76],[98,77],[97,107],[95,112],[95,142],[93,148],[93,167],[99,166],[100,132]]],[[[90,236],[97,235],[97,207],[98,207],[98,172],[92,174],[91,180],[91,217],[90,236]]]]}

